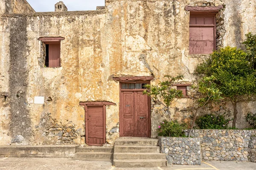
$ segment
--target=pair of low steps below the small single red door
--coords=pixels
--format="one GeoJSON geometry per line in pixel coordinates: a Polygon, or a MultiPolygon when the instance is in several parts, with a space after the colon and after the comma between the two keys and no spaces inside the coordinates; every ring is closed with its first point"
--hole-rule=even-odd
{"type": "Polygon", "coordinates": [[[75,158],[87,161],[113,161],[113,147],[78,147],[75,158]]]}

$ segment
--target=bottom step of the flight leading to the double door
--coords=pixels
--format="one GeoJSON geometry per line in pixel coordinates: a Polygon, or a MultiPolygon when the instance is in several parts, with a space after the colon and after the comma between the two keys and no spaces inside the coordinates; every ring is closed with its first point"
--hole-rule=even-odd
{"type": "Polygon", "coordinates": [[[115,167],[166,167],[166,159],[126,159],[113,161],[115,167]]]}

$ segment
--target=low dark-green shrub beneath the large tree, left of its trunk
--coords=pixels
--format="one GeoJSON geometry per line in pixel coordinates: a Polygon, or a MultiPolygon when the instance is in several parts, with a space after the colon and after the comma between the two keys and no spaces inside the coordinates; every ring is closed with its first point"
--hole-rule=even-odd
{"type": "Polygon", "coordinates": [[[227,129],[231,120],[225,119],[223,115],[206,114],[198,117],[195,122],[201,129],[227,129]]]}

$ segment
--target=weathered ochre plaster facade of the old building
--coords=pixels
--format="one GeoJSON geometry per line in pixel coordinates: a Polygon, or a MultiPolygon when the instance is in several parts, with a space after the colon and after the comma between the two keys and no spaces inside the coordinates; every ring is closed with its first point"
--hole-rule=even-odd
{"type": "MultiPolygon", "coordinates": [[[[184,74],[181,83],[189,84],[195,66],[208,57],[189,54],[191,10],[215,11],[216,48],[243,48],[244,34],[256,32],[256,1],[251,0],[106,0],[98,9],[35,12],[26,0],[0,0],[0,145],[84,144],[90,133],[87,110],[98,106],[105,114],[104,140],[113,144],[119,136],[122,77],[157,84],[166,74],[184,74]],[[59,67],[44,65],[52,42],[60,44],[59,67]]],[[[192,107],[192,99],[179,99],[174,118],[189,122],[192,107]]],[[[233,112],[230,103],[211,111],[233,112]]],[[[238,127],[247,126],[241,116],[248,111],[256,111],[255,102],[239,104],[238,127]]],[[[151,105],[148,137],[156,137],[166,116],[151,105]]],[[[125,125],[120,129],[130,130],[125,125]]]]}

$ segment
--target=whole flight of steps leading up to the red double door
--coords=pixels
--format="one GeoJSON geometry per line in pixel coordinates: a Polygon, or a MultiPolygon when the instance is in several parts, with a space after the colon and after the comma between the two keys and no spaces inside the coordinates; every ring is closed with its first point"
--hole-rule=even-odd
{"type": "Polygon", "coordinates": [[[118,138],[113,155],[115,167],[166,167],[166,156],[160,153],[158,139],[118,138]]]}

